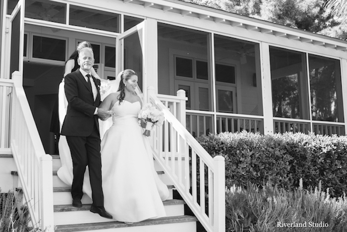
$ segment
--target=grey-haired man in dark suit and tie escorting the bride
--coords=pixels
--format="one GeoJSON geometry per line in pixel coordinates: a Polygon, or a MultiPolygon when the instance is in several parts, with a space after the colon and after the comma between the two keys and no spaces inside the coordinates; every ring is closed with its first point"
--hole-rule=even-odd
{"type": "Polygon", "coordinates": [[[104,208],[98,122],[98,117],[105,120],[110,114],[98,109],[101,103],[100,80],[96,80],[90,74],[94,64],[93,50],[90,48],[80,50],[77,62],[80,68],[65,77],[68,107],[61,127],[61,134],[66,136],[73,164],[72,205],[77,208],[82,207],[83,179],[88,166],[93,198],[90,211],[112,219],[104,208]]]}

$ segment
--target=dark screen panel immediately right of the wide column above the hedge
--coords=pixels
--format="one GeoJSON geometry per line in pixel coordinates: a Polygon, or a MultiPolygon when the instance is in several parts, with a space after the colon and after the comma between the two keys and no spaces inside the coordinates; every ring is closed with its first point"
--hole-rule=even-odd
{"type": "Polygon", "coordinates": [[[274,117],[309,119],[306,54],[270,47],[274,117]]]}

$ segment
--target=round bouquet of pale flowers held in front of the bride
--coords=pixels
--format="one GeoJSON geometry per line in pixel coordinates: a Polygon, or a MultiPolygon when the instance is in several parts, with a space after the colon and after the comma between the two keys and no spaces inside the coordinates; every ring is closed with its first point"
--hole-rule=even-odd
{"type": "Polygon", "coordinates": [[[146,130],[143,133],[145,136],[151,135],[151,129],[154,125],[161,126],[164,123],[164,113],[160,112],[155,106],[151,103],[148,103],[143,106],[143,108],[138,113],[139,124],[141,120],[146,122],[146,130]]]}

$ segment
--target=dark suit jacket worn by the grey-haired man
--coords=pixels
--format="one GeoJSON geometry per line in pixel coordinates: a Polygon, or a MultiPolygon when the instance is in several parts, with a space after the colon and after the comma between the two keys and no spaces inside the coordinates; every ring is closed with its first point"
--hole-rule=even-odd
{"type": "Polygon", "coordinates": [[[65,76],[65,95],[68,106],[61,127],[62,135],[87,137],[94,129],[94,123],[99,130],[98,116],[94,115],[94,112],[101,103],[100,80],[94,77],[93,80],[98,89],[95,101],[90,86],[79,69],[65,76]]]}

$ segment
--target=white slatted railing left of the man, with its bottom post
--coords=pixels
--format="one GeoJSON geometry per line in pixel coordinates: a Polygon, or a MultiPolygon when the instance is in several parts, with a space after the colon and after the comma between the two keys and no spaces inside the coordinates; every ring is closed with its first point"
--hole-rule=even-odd
{"type": "Polygon", "coordinates": [[[10,147],[32,226],[53,232],[52,157],[45,154],[21,80],[17,71],[0,79],[1,149],[10,147]]]}

